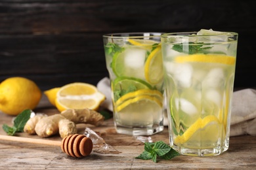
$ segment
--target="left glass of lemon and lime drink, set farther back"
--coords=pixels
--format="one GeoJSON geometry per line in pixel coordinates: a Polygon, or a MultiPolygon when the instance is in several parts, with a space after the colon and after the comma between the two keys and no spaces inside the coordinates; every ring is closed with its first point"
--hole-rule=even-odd
{"type": "Polygon", "coordinates": [[[117,133],[163,130],[161,33],[103,35],[117,133]]]}

